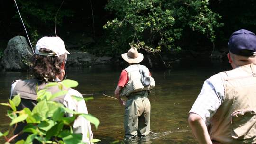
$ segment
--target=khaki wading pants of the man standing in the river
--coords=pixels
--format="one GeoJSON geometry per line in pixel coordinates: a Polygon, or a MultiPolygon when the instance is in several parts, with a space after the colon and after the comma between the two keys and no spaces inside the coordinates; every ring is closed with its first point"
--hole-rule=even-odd
{"type": "Polygon", "coordinates": [[[126,138],[135,138],[149,134],[150,102],[148,91],[129,95],[125,105],[124,129],[126,138]]]}

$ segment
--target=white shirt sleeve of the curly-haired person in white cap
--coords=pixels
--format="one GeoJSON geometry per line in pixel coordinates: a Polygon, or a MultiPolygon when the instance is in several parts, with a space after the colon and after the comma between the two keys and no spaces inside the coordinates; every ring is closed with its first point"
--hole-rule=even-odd
{"type": "MultiPolygon", "coordinates": [[[[64,103],[63,103],[64,106],[78,113],[88,114],[85,101],[84,100],[76,101],[71,97],[73,95],[83,98],[82,94],[79,93],[77,90],[70,89],[68,91],[68,94],[64,98],[64,103]]],[[[90,122],[84,117],[79,116],[75,119],[73,124],[73,132],[77,134],[82,134],[83,142],[88,144],[93,144],[92,142],[90,142],[93,139],[91,125],[90,125],[90,122]]]]}

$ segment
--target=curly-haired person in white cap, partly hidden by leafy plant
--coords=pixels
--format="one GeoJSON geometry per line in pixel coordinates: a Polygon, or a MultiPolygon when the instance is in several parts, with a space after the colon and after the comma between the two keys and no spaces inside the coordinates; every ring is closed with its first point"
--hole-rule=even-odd
{"type": "MultiPolygon", "coordinates": [[[[67,54],[69,52],[65,48],[64,41],[60,37],[43,37],[38,40],[36,44],[35,54],[32,57],[32,73],[34,79],[28,80],[16,80],[11,87],[11,97],[19,94],[21,97],[21,104],[18,106],[18,110],[22,110],[27,107],[30,110],[37,104],[37,92],[44,89],[48,82],[61,82],[65,78],[65,64],[67,60],[67,54]]],[[[59,88],[49,87],[47,91],[52,94],[59,92],[59,88]]],[[[77,111],[79,113],[88,113],[84,100],[76,101],[71,96],[82,97],[82,94],[77,90],[68,89],[68,93],[53,100],[62,103],[65,107],[77,111]]],[[[14,131],[14,135],[26,126],[26,123],[18,123],[17,128],[14,131]]],[[[93,133],[91,131],[90,122],[84,117],[77,117],[73,123],[73,132],[80,133],[82,135],[82,141],[88,144],[93,139],[93,133]]],[[[15,141],[26,139],[27,133],[19,134],[15,141]]],[[[37,144],[37,141],[33,141],[33,144],[37,144]]]]}

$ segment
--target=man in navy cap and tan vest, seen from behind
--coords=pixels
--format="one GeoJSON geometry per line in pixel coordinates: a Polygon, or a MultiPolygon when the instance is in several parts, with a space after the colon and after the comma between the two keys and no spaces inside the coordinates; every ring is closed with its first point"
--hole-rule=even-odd
{"type": "Polygon", "coordinates": [[[238,30],[228,47],[233,70],[207,79],[190,110],[200,144],[256,144],[256,36],[238,30]]]}

